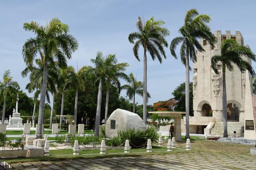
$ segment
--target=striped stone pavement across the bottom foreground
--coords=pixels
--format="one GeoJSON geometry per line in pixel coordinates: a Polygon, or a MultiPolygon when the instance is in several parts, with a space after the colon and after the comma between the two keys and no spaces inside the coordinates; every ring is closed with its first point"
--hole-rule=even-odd
{"type": "Polygon", "coordinates": [[[16,163],[11,166],[18,170],[227,170],[256,169],[256,157],[249,154],[222,154],[218,160],[218,155],[207,152],[185,152],[166,155],[145,155],[137,157],[118,157],[118,158],[97,158],[97,159],[78,159],[65,161],[46,161],[46,162],[25,162],[16,163]],[[225,165],[225,164],[226,165],[225,165]],[[229,167],[229,166],[232,167],[229,167]]]}

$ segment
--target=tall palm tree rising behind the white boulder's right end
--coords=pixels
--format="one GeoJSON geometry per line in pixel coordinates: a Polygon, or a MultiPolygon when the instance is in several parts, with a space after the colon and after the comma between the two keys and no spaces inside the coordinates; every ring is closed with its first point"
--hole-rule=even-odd
{"type": "Polygon", "coordinates": [[[155,60],[162,63],[162,55],[166,58],[164,46],[167,47],[168,43],[165,36],[169,35],[169,30],[162,25],[165,22],[161,20],[154,20],[152,17],[143,25],[142,19],[139,17],[136,26],[138,32],[132,32],[129,34],[128,40],[134,44],[133,54],[140,61],[138,50],[142,46],[144,49],[143,56],[143,122],[147,123],[147,52],[155,60]]]}

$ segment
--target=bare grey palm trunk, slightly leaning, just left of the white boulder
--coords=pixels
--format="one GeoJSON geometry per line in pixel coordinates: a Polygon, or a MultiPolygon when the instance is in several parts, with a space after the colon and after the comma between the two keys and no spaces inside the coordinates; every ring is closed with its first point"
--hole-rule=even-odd
{"type": "Polygon", "coordinates": [[[101,121],[101,91],[102,91],[102,80],[99,79],[99,90],[98,90],[98,101],[97,101],[97,111],[95,117],[95,132],[94,136],[99,136],[99,122],[101,121]]]}

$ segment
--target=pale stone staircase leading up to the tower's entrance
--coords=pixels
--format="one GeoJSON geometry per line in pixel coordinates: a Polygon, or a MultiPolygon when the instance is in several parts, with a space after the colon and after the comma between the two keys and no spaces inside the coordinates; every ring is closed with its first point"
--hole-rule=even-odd
{"type": "MultiPolygon", "coordinates": [[[[241,127],[244,126],[244,122],[238,121],[228,121],[227,122],[227,135],[229,137],[234,136],[234,131],[236,131],[237,137],[243,137],[244,133],[241,130],[241,127]]],[[[216,121],[214,124],[214,128],[212,128],[209,136],[212,137],[221,137],[223,136],[223,121],[216,121]]]]}

